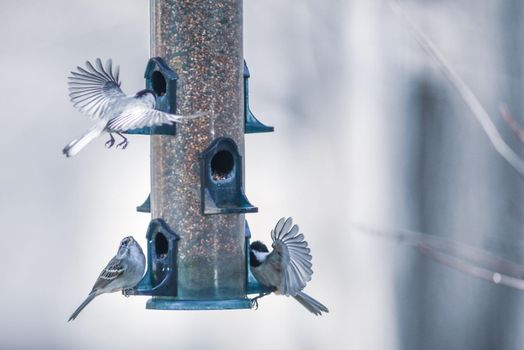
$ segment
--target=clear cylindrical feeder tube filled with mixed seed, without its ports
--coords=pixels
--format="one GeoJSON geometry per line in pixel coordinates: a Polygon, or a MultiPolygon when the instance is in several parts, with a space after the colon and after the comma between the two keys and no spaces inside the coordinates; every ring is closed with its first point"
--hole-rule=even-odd
{"type": "Polygon", "coordinates": [[[151,0],[151,54],[178,75],[176,112],[208,113],[151,136],[151,215],[180,237],[175,300],[246,298],[244,214],[203,214],[198,158],[218,137],[244,155],[242,0],[151,0]]]}

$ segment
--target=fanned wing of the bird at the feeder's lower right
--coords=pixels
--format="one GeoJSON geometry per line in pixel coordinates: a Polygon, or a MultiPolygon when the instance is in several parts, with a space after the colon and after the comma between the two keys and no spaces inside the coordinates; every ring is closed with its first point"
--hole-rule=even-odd
{"type": "Polygon", "coordinates": [[[280,264],[281,280],[277,286],[284,295],[296,295],[311,280],[313,274],[312,257],[304,235],[299,233],[298,225],[292,218],[280,219],[271,230],[273,252],[268,257],[270,263],[280,264]]]}

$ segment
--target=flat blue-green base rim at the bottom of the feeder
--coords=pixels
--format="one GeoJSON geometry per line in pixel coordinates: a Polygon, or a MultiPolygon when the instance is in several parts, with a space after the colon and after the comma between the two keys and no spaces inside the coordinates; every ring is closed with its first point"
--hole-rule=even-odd
{"type": "Polygon", "coordinates": [[[169,297],[153,297],[146,303],[150,310],[232,310],[250,309],[249,299],[226,300],[180,300],[169,297]]]}

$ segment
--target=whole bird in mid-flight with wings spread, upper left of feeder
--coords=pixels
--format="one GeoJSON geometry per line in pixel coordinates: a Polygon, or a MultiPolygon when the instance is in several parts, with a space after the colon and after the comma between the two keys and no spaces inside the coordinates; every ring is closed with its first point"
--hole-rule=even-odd
{"type": "Polygon", "coordinates": [[[87,70],[77,67],[77,72],[69,76],[69,97],[73,105],[80,112],[89,115],[98,122],[82,136],[71,141],[64,147],[66,157],[72,157],[84,148],[89,142],[100,136],[104,131],[111,137],[106,147],[111,148],[115,143],[113,132],[123,141],[117,144],[122,149],[127,147],[127,138],[122,132],[155,126],[171,124],[183,119],[191,119],[204,115],[199,113],[192,116],[180,116],[155,110],[156,97],[151,90],[141,90],[135,96],[126,96],[120,89],[119,68],[107,60],[105,68],[97,58],[95,66],[86,62],[87,70]]]}

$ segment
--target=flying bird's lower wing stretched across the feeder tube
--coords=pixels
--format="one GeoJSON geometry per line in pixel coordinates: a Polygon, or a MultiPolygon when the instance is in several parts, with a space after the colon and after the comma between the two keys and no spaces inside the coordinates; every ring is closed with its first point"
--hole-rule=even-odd
{"type": "Polygon", "coordinates": [[[150,108],[144,104],[135,103],[134,105],[124,109],[120,115],[111,119],[107,124],[107,128],[115,132],[125,132],[146,126],[172,124],[184,119],[197,118],[201,115],[202,114],[181,116],[169,114],[150,108]]]}

